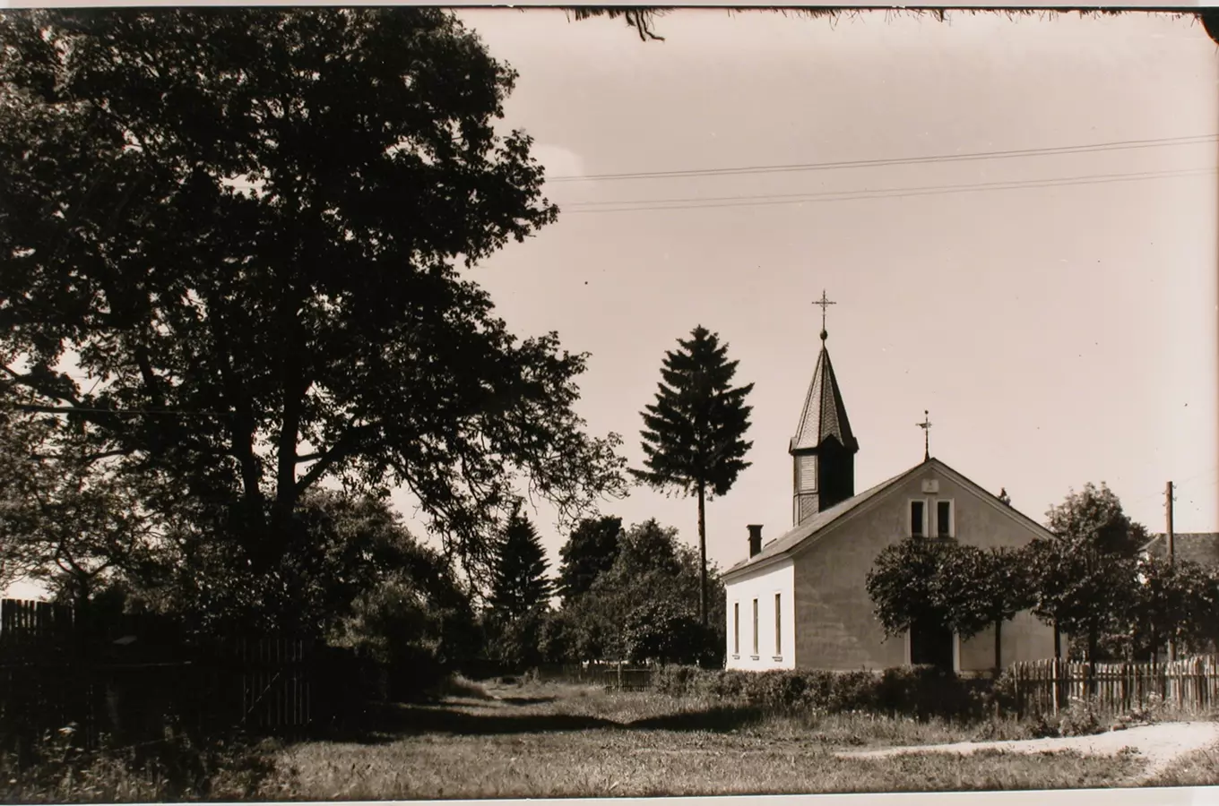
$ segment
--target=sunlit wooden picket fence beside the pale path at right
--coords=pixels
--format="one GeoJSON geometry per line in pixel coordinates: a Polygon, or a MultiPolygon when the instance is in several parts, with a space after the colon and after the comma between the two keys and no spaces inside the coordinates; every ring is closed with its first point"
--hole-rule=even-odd
{"type": "Polygon", "coordinates": [[[1185,713],[1219,709],[1219,656],[1170,662],[1096,662],[1058,657],[1011,667],[1018,715],[1059,713],[1072,700],[1087,700],[1107,713],[1152,704],[1185,713]]]}

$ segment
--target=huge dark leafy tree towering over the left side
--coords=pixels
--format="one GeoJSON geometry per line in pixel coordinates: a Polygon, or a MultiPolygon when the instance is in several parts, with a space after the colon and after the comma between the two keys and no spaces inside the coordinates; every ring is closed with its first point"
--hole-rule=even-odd
{"type": "Polygon", "coordinates": [[[5,377],[247,575],[327,478],[407,486],[473,565],[523,478],[574,520],[622,485],[572,409],[585,357],[460,268],[557,213],[496,130],[513,82],[432,9],[5,15],[5,377]]]}

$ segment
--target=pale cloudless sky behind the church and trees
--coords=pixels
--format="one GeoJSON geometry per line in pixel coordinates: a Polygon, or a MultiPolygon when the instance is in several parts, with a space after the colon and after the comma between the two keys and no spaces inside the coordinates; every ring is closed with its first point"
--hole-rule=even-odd
{"type": "MultiPolygon", "coordinates": [[[[561,208],[469,274],[518,335],[590,353],[589,430],[640,466],[639,413],[695,325],[755,384],[752,465],[707,510],[720,567],[747,524],[791,527],[823,290],[857,492],[922,460],[929,410],[931,454],[1039,521],[1103,481],[1162,531],[1173,480],[1176,531],[1219,530],[1219,56],[1192,18],[683,10],[642,43],[557,10],[461,17],[518,71],[505,125],[561,208]],[[594,179],[840,162],[873,164],[594,179]]],[[[690,498],[602,513],[697,541],[690,498]]],[[[557,565],[566,536],[533,516],[557,565]]]]}

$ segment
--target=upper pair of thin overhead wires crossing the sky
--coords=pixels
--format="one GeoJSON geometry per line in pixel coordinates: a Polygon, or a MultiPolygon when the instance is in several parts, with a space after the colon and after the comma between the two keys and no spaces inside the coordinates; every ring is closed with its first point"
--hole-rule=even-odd
{"type": "Polygon", "coordinates": [[[1004,151],[974,151],[969,153],[941,153],[924,157],[889,157],[879,159],[845,159],[837,162],[806,162],[780,166],[737,166],[729,168],[697,168],[689,170],[636,170],[627,173],[590,174],[588,177],[547,177],[546,181],[616,181],[627,179],[677,179],[684,177],[733,177],[737,174],[795,173],[805,170],[834,170],[840,168],[869,168],[876,166],[913,166],[928,162],[967,162],[973,159],[1009,159],[1014,157],[1039,157],[1065,153],[1092,153],[1098,151],[1124,151],[1131,149],[1162,149],[1168,146],[1197,145],[1219,141],[1219,134],[1196,134],[1152,140],[1113,140],[1078,146],[1053,146],[1046,149],[1008,149],[1004,151]]]}

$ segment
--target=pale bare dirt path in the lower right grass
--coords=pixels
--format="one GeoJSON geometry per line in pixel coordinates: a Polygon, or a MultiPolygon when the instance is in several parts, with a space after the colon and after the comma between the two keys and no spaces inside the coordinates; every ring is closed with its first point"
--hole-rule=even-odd
{"type": "Polygon", "coordinates": [[[1075,750],[1096,756],[1112,756],[1124,748],[1132,748],[1147,760],[1147,766],[1137,782],[1153,778],[1184,755],[1204,750],[1219,743],[1219,722],[1165,722],[1146,724],[1128,731],[1109,731],[1093,737],[1069,737],[1063,739],[1022,739],[1017,741],[958,741],[956,744],[929,744],[884,750],[859,750],[835,754],[842,759],[876,759],[904,752],[959,752],[978,750],[1004,750],[1007,752],[1056,752],[1075,750]]]}

